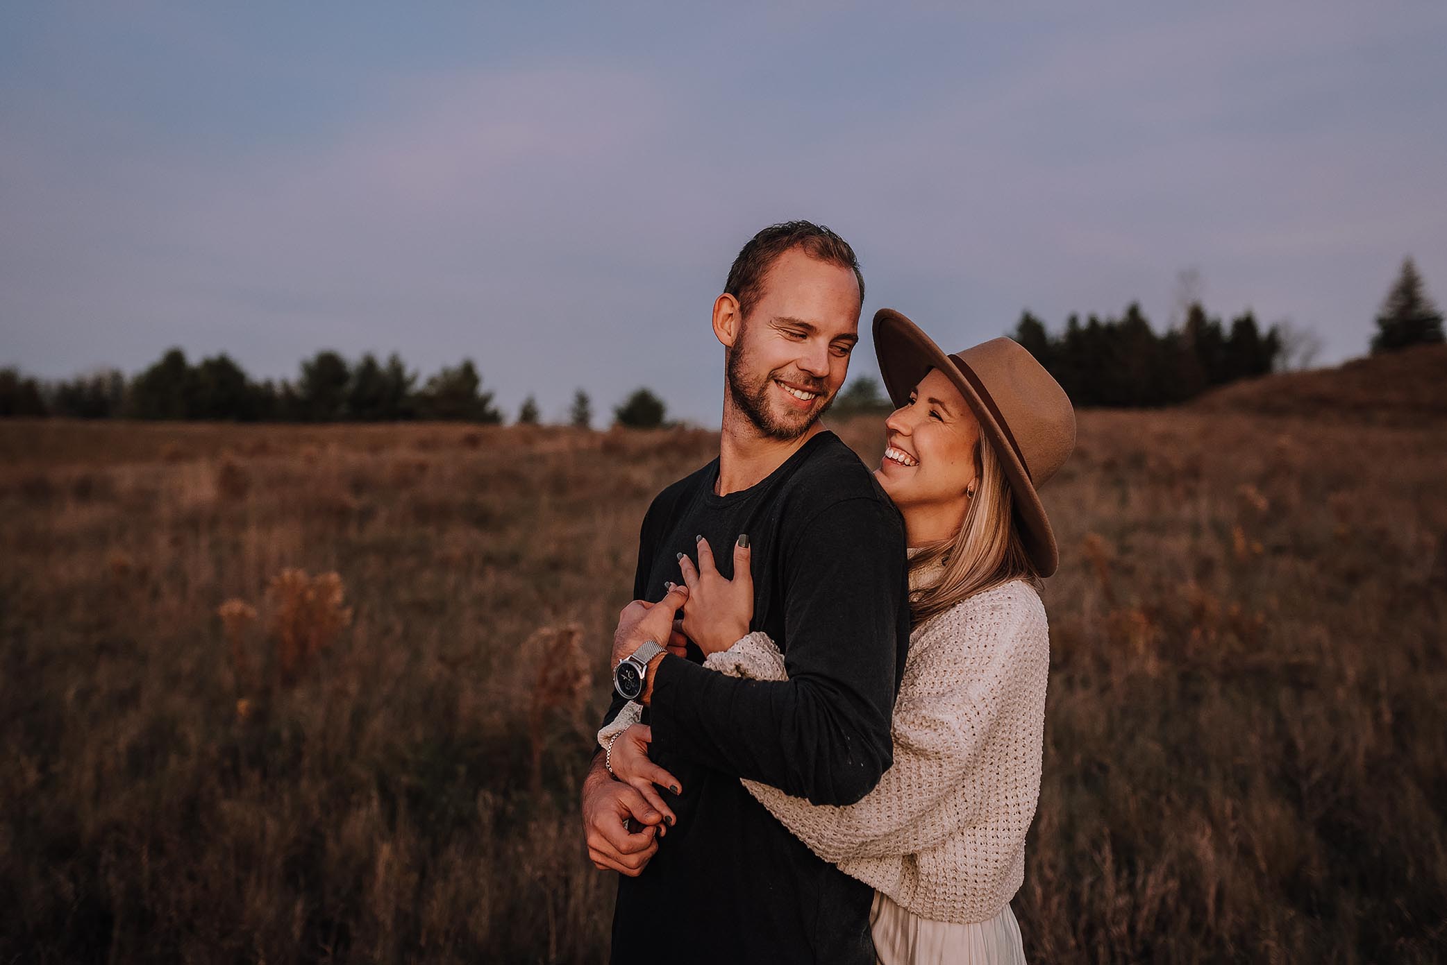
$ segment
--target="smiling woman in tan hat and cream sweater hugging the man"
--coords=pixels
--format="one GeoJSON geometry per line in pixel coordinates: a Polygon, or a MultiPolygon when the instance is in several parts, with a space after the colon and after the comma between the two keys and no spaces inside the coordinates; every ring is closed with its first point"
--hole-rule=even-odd
{"type": "MultiPolygon", "coordinates": [[[[1069,399],[1019,344],[946,356],[909,318],[874,317],[890,398],[875,476],[910,554],[909,658],[894,706],[894,764],[857,804],[815,806],[745,780],[820,858],[875,888],[883,962],[1023,962],[1010,898],[1040,787],[1049,637],[1040,579],[1058,551],[1036,495],[1075,444],[1069,399]]],[[[700,544],[683,557],[683,632],[705,666],[783,680],[787,660],[748,632],[747,557],[725,580],[700,544]]],[[[609,768],[653,800],[677,784],[647,758],[629,705],[599,732],[609,768]]]]}

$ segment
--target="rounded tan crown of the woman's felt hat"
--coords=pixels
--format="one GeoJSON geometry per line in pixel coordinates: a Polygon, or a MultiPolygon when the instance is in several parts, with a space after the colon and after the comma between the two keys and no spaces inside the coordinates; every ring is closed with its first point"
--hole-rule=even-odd
{"type": "Polygon", "coordinates": [[[1045,485],[1075,449],[1075,409],[1065,389],[1014,339],[991,339],[949,357],[993,409],[1030,482],[1045,485]]]}

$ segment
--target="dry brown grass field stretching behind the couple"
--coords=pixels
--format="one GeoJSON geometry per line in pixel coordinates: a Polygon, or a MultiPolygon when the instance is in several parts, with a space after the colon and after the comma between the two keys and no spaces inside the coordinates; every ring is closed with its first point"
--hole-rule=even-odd
{"type": "MultiPolygon", "coordinates": [[[[0,422],[0,962],[605,961],[576,786],[715,446],[0,422]]],[[[1082,414],[1032,961],[1447,958],[1444,480],[1437,418],[1082,414]]]]}

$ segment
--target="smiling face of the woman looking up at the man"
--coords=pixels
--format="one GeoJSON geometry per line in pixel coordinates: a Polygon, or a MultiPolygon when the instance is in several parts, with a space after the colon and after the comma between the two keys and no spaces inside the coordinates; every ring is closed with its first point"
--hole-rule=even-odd
{"type": "MultiPolygon", "coordinates": [[[[967,490],[977,485],[975,446],[980,422],[955,383],[930,369],[909,402],[884,420],[884,459],[875,477],[894,505],[923,531],[946,538],[964,524],[967,490]]],[[[916,525],[910,527],[912,531],[916,525]]]]}

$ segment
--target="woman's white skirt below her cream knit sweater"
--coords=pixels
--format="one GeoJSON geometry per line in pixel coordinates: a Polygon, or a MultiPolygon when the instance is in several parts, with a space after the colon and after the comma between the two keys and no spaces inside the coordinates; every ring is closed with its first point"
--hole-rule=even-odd
{"type": "Polygon", "coordinates": [[[988,922],[930,922],[900,907],[883,891],[870,909],[880,965],[1024,965],[1014,911],[1004,906],[988,922]]]}

